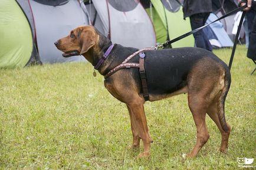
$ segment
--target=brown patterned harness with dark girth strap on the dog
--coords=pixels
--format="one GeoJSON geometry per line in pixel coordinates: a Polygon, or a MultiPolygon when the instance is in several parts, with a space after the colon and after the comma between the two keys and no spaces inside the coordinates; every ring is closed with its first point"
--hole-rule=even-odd
{"type": "Polygon", "coordinates": [[[139,73],[140,73],[140,80],[142,81],[142,92],[143,92],[143,97],[145,101],[149,100],[149,92],[147,90],[147,79],[146,79],[146,71],[145,71],[145,66],[144,66],[144,61],[145,61],[145,54],[143,51],[147,50],[153,50],[154,48],[144,48],[140,49],[139,51],[134,52],[132,55],[128,56],[120,65],[117,65],[115,68],[111,69],[106,75],[104,75],[104,78],[109,78],[109,76],[113,75],[115,72],[119,71],[120,69],[123,68],[139,68],[139,73]],[[134,56],[139,54],[140,59],[139,59],[139,64],[134,63],[134,62],[128,62],[130,59],[132,59],[134,56]]]}

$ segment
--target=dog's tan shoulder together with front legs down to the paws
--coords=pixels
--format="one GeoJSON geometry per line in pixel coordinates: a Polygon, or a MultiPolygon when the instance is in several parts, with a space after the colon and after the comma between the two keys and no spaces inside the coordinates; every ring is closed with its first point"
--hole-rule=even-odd
{"type": "Polygon", "coordinates": [[[125,73],[126,72],[122,71],[116,72],[111,76],[111,84],[105,82],[105,86],[115,98],[127,105],[132,125],[133,146],[139,146],[139,139],[142,139],[144,151],[139,154],[139,157],[148,157],[150,155],[150,144],[152,139],[147,127],[143,106],[145,100],[139,95],[139,89],[133,78],[125,73]]]}

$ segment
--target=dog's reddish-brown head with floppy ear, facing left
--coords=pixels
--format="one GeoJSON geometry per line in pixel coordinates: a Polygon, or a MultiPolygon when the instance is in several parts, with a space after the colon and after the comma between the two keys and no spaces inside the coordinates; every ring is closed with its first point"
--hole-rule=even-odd
{"type": "Polygon", "coordinates": [[[63,51],[64,57],[86,54],[99,41],[99,35],[93,26],[80,26],[73,29],[70,35],[54,42],[63,51]]]}

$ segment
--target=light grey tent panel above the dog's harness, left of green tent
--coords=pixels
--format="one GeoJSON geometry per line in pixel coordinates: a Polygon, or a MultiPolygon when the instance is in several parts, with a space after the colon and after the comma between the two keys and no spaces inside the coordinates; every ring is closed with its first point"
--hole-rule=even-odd
{"type": "Polygon", "coordinates": [[[109,0],[108,2],[112,42],[139,49],[156,45],[152,22],[140,3],[127,1],[130,3],[122,3],[122,8],[116,9],[112,5],[117,1],[109,0]],[[136,3],[136,6],[134,3],[136,3]],[[124,7],[129,11],[121,11],[124,7]]]}

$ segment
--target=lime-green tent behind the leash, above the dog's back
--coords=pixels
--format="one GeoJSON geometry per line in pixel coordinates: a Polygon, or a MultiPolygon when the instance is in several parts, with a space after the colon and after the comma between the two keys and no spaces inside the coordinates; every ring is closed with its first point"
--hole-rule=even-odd
{"type": "MultiPolygon", "coordinates": [[[[178,0],[143,0],[141,2],[152,18],[158,43],[191,31],[189,18],[183,19],[181,4],[178,0]]],[[[193,35],[172,44],[172,48],[183,46],[194,46],[193,35]]]]}

